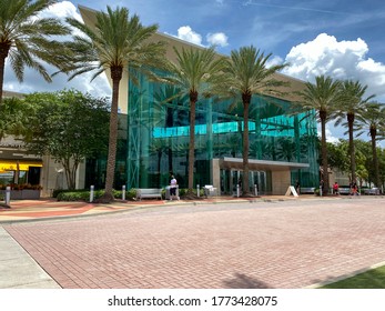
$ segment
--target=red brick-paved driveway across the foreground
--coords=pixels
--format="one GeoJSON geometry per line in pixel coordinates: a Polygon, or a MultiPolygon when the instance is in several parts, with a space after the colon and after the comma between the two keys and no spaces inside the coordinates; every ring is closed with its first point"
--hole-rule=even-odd
{"type": "Polygon", "coordinates": [[[385,261],[385,199],[163,205],[6,230],[62,287],[303,288],[385,261]]]}

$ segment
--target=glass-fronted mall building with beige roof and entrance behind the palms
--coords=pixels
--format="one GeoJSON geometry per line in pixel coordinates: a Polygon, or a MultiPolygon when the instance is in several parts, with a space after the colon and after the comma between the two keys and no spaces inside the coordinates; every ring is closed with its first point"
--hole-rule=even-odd
{"type": "MultiPolygon", "coordinates": [[[[85,23],[95,11],[80,7],[85,23]]],[[[176,49],[202,49],[174,37],[156,33],[151,40],[168,42],[166,57],[175,60],[176,49]]],[[[156,69],[154,69],[156,70],[156,69]]],[[[156,71],[158,73],[159,70],[156,71]]],[[[109,78],[109,74],[108,74],[109,78]]],[[[318,183],[318,153],[314,112],[293,113],[294,91],[304,82],[277,73],[290,83],[280,98],[254,96],[250,106],[250,184],[260,194],[284,194],[297,180],[302,187],[318,183]]],[[[163,188],[174,174],[181,188],[188,185],[189,98],[168,100],[175,87],[151,82],[129,68],[120,88],[120,122],[115,189],[163,188]],[[134,84],[130,74],[139,78],[134,84]]],[[[194,185],[212,184],[221,194],[232,194],[242,177],[242,103],[200,98],[195,119],[194,185]]],[[[1,152],[1,151],[0,151],[1,152]]],[[[3,161],[0,159],[0,161],[3,161]]],[[[47,163],[45,163],[47,162],[47,163]]],[[[41,162],[41,184],[45,191],[58,188],[60,168],[41,162]]],[[[33,162],[36,163],[36,162],[33,162]]],[[[39,162],[40,163],[40,162],[39,162]]],[[[103,188],[105,159],[88,159],[78,172],[78,188],[103,188]]],[[[65,187],[64,181],[61,185],[65,187]]]]}

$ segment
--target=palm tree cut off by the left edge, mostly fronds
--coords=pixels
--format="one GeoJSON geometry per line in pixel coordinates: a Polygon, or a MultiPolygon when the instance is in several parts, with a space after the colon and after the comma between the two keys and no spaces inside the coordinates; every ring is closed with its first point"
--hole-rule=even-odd
{"type": "Polygon", "coordinates": [[[45,81],[52,81],[39,60],[58,66],[61,61],[61,44],[48,37],[68,34],[70,30],[57,19],[37,19],[37,16],[55,2],[0,0],[0,104],[7,58],[20,82],[23,81],[26,67],[37,70],[45,81]]]}

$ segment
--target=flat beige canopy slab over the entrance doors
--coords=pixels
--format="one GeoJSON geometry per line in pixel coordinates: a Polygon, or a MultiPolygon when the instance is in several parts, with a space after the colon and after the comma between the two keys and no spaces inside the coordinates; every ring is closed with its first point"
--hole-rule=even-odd
{"type": "MultiPolygon", "coordinates": [[[[221,169],[242,171],[243,159],[241,158],[223,158],[219,160],[221,169]]],[[[251,171],[287,171],[307,168],[310,168],[308,163],[249,160],[249,169],[251,171]]]]}

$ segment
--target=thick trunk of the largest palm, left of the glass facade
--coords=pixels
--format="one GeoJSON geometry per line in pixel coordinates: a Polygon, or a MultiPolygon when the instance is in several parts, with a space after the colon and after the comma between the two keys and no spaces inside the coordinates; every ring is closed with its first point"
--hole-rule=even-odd
{"type": "Polygon", "coordinates": [[[123,68],[112,67],[112,102],[110,113],[110,138],[109,138],[109,156],[107,161],[105,185],[104,194],[100,198],[100,202],[113,201],[112,187],[115,174],[116,161],[116,143],[118,143],[118,100],[119,100],[119,84],[122,79],[123,68]]]}

